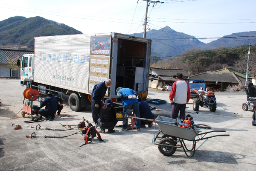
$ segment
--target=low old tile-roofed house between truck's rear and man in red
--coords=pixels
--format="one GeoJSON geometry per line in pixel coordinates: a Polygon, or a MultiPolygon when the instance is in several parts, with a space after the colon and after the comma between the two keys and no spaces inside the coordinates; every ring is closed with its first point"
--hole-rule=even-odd
{"type": "Polygon", "coordinates": [[[176,75],[178,72],[183,74],[184,79],[189,77],[189,74],[183,69],[150,68],[149,79],[150,81],[157,80],[157,85],[159,87],[163,87],[164,85],[172,85],[175,81],[177,81],[176,75]]]}

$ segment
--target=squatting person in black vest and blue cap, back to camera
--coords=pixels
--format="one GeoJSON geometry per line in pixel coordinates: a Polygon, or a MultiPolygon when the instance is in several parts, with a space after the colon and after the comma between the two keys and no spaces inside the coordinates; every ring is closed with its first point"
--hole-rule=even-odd
{"type": "Polygon", "coordinates": [[[116,110],[112,106],[111,99],[105,100],[103,107],[99,113],[98,125],[100,126],[100,133],[105,133],[105,129],[108,129],[108,133],[116,132],[113,128],[116,126],[118,120],[116,119],[116,110]]]}

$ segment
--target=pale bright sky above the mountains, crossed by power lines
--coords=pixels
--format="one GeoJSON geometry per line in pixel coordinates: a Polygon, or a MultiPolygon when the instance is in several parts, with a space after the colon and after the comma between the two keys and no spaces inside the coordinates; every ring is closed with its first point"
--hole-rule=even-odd
{"type": "MultiPolygon", "coordinates": [[[[196,38],[218,38],[256,31],[256,0],[163,0],[148,7],[148,26],[169,26],[196,38]]],[[[0,21],[41,16],[84,34],[143,32],[143,0],[9,0],[0,3],[0,21]]],[[[209,43],[215,39],[200,39],[209,43]]]]}

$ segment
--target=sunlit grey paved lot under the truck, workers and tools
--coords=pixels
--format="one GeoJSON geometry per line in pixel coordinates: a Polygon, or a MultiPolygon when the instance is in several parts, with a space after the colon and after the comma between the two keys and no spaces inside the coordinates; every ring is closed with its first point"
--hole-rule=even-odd
{"type": "MultiPolygon", "coordinates": [[[[252,111],[243,111],[241,106],[246,101],[244,92],[216,93],[217,110],[210,112],[207,108],[200,108],[196,114],[192,110],[192,100],[187,104],[186,112],[191,114],[197,124],[206,124],[212,130],[226,130],[230,136],[208,139],[192,158],[186,157],[181,148],[170,157],[163,156],[157,145],[152,144],[154,131],[159,130],[156,124],[152,128],[128,130],[115,128],[116,133],[101,134],[104,142],[93,139],[84,144],[81,134],[67,138],[26,138],[35,132],[36,135],[65,136],[78,130],[54,131],[36,130],[23,127],[14,130],[12,124],[36,126],[43,128],[63,129],[59,123],[77,125],[82,117],[92,122],[90,107],[81,112],[73,112],[64,101],[62,115],[70,115],[74,119],[57,117],[51,122],[26,124],[31,120],[28,115],[21,117],[23,108],[23,91],[25,87],[19,85],[17,79],[0,79],[0,170],[26,171],[77,171],[77,170],[108,170],[108,171],[255,171],[256,169],[256,138],[255,126],[252,126],[252,111]],[[19,112],[19,113],[18,113],[19,112]],[[18,113],[16,116],[14,116],[18,113]],[[83,145],[83,146],[81,146],[83,145]],[[81,146],[81,147],[80,147],[81,146]]],[[[166,104],[154,105],[160,111],[157,115],[170,116],[171,104],[169,92],[149,91],[151,99],[167,100],[166,104]],[[162,110],[162,111],[161,111],[162,110]]],[[[35,102],[36,103],[36,102],[35,102]]],[[[150,104],[151,105],[151,104],[150,104]]],[[[121,125],[118,122],[117,125],[121,125]]],[[[99,129],[98,129],[99,130],[99,129]]],[[[202,132],[208,131],[203,129],[202,132]]],[[[216,133],[212,133],[216,134],[216,133]]],[[[197,147],[202,142],[198,142],[197,147]]],[[[191,147],[191,142],[187,142],[191,147]]]]}

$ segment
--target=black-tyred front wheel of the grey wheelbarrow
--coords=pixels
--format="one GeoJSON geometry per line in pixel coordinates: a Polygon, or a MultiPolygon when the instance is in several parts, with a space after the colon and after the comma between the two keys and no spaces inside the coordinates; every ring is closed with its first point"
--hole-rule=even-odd
{"type": "MultiPolygon", "coordinates": [[[[161,139],[159,144],[176,146],[176,143],[173,141],[173,139],[170,139],[169,137],[161,139]]],[[[167,147],[163,145],[158,145],[158,150],[165,156],[172,156],[172,154],[174,154],[177,149],[176,147],[167,147]]]]}

